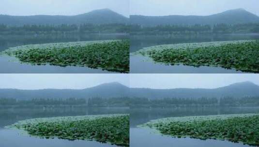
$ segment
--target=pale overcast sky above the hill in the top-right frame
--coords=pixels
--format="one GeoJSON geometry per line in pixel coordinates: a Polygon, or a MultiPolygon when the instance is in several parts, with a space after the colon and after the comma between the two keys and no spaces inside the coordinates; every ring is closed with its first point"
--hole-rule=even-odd
{"type": "Polygon", "coordinates": [[[259,0],[130,0],[131,15],[212,15],[237,8],[259,15],[259,0]]]}

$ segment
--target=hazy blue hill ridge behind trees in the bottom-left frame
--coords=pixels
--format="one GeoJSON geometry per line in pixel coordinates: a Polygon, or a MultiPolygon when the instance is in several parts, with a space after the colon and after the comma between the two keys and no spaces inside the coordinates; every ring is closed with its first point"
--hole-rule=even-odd
{"type": "Polygon", "coordinates": [[[33,98],[113,98],[129,95],[128,87],[120,83],[107,83],[85,89],[0,89],[0,98],[15,98],[17,100],[30,100],[33,98]]]}

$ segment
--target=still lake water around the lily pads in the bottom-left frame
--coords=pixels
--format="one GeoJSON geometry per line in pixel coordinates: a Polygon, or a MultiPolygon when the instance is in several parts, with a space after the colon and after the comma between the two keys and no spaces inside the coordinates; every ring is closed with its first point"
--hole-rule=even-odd
{"type": "Polygon", "coordinates": [[[96,141],[64,139],[42,139],[19,134],[19,131],[4,129],[4,126],[14,124],[19,120],[30,118],[48,118],[63,116],[83,116],[102,114],[126,114],[129,108],[0,108],[0,147],[117,147],[109,143],[96,141]]]}

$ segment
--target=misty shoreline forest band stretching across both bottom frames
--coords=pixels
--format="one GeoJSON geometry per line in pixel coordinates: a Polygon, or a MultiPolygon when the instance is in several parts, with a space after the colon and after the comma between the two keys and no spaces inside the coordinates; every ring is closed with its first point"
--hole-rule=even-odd
{"type": "Polygon", "coordinates": [[[93,97],[89,99],[31,99],[17,100],[0,98],[0,105],[85,105],[89,107],[172,107],[172,106],[259,106],[259,97],[222,97],[222,98],[164,98],[150,100],[148,98],[93,97]]]}

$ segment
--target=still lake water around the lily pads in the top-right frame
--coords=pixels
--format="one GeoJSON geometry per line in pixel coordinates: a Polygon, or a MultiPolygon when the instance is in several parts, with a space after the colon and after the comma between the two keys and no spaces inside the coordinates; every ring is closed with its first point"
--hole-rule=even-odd
{"type": "MultiPolygon", "coordinates": [[[[253,40],[259,34],[198,34],[198,35],[131,35],[130,52],[143,47],[161,44],[200,43],[213,41],[253,40]]],[[[220,67],[192,67],[184,65],[165,65],[154,63],[143,56],[130,56],[130,73],[244,73],[220,67]]]]}

